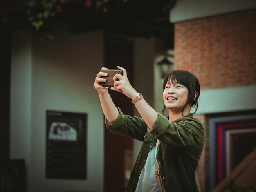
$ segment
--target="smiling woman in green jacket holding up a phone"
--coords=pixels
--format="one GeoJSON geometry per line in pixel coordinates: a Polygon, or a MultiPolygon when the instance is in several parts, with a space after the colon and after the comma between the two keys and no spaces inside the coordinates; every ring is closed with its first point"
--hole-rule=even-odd
{"type": "Polygon", "coordinates": [[[99,84],[106,81],[100,78],[107,76],[106,73],[97,74],[94,87],[99,93],[110,132],[143,142],[126,191],[196,192],[194,173],[205,141],[202,123],[190,112],[191,108],[195,107],[196,111],[198,107],[198,79],[188,71],[171,71],[164,79],[164,110],[160,114],[132,87],[126,70],[117,68],[123,71],[123,75],[114,76],[114,87],[110,89],[131,98],[142,118],[124,115],[115,106],[108,88],[99,84]],[[169,111],[168,117],[163,115],[165,109],[169,111]]]}

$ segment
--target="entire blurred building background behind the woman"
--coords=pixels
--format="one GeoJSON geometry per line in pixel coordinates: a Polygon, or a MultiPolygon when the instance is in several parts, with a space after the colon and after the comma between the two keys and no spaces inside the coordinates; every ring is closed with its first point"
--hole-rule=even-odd
{"type": "Polygon", "coordinates": [[[0,18],[2,192],[125,191],[141,142],[106,130],[93,86],[117,65],[157,112],[166,71],[195,74],[202,192],[256,191],[255,0],[0,0],[0,18]]]}

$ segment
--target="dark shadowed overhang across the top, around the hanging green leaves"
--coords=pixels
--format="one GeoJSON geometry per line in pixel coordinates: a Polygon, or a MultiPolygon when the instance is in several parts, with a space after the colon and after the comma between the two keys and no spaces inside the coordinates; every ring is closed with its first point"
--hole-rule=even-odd
{"type": "MultiPolygon", "coordinates": [[[[48,0],[50,1],[50,0],[48,0]]],[[[176,0],[66,0],[54,4],[56,14],[45,20],[71,23],[70,33],[85,33],[102,29],[106,34],[133,37],[159,37],[173,43],[173,24],[169,11],[176,0]],[[88,2],[90,2],[88,4],[88,2]]],[[[17,29],[30,25],[25,9],[17,0],[0,0],[1,24],[17,29]]],[[[43,30],[43,27],[42,27],[43,30]]]]}

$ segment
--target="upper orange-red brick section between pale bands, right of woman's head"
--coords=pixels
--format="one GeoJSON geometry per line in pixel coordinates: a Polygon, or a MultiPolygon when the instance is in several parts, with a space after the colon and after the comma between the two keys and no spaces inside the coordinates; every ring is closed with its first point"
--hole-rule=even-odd
{"type": "Polygon", "coordinates": [[[200,70],[198,71],[200,73],[209,75],[209,73],[218,74],[226,70],[234,71],[233,74],[222,74],[226,79],[230,79],[225,82],[227,85],[223,85],[218,79],[216,80],[219,82],[215,82],[215,86],[212,82],[203,83],[203,81],[209,81],[207,79],[199,79],[202,89],[256,84],[256,78],[252,78],[256,76],[255,24],[255,10],[176,23],[175,53],[179,53],[178,57],[175,56],[176,67],[189,70],[191,67],[187,65],[197,61],[200,67],[202,63],[221,64],[220,69],[211,67],[212,70],[200,70]],[[180,31],[182,31],[181,34],[180,31]],[[237,74],[242,74],[243,80],[237,74]],[[234,83],[236,81],[240,82],[239,85],[234,83]]]}

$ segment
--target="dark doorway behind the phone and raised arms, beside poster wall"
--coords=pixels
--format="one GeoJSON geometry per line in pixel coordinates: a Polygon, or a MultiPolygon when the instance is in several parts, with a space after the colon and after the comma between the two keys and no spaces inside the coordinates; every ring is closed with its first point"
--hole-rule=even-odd
{"type": "MultiPolygon", "coordinates": [[[[133,40],[132,38],[106,35],[104,38],[104,67],[117,69],[117,65],[127,70],[130,83],[133,82],[133,40]]],[[[133,105],[130,98],[120,92],[108,90],[115,105],[124,114],[132,115],[133,105]]],[[[130,165],[133,139],[112,134],[104,129],[104,191],[125,191],[130,165]],[[129,167],[129,166],[128,166],[129,167]]]]}

